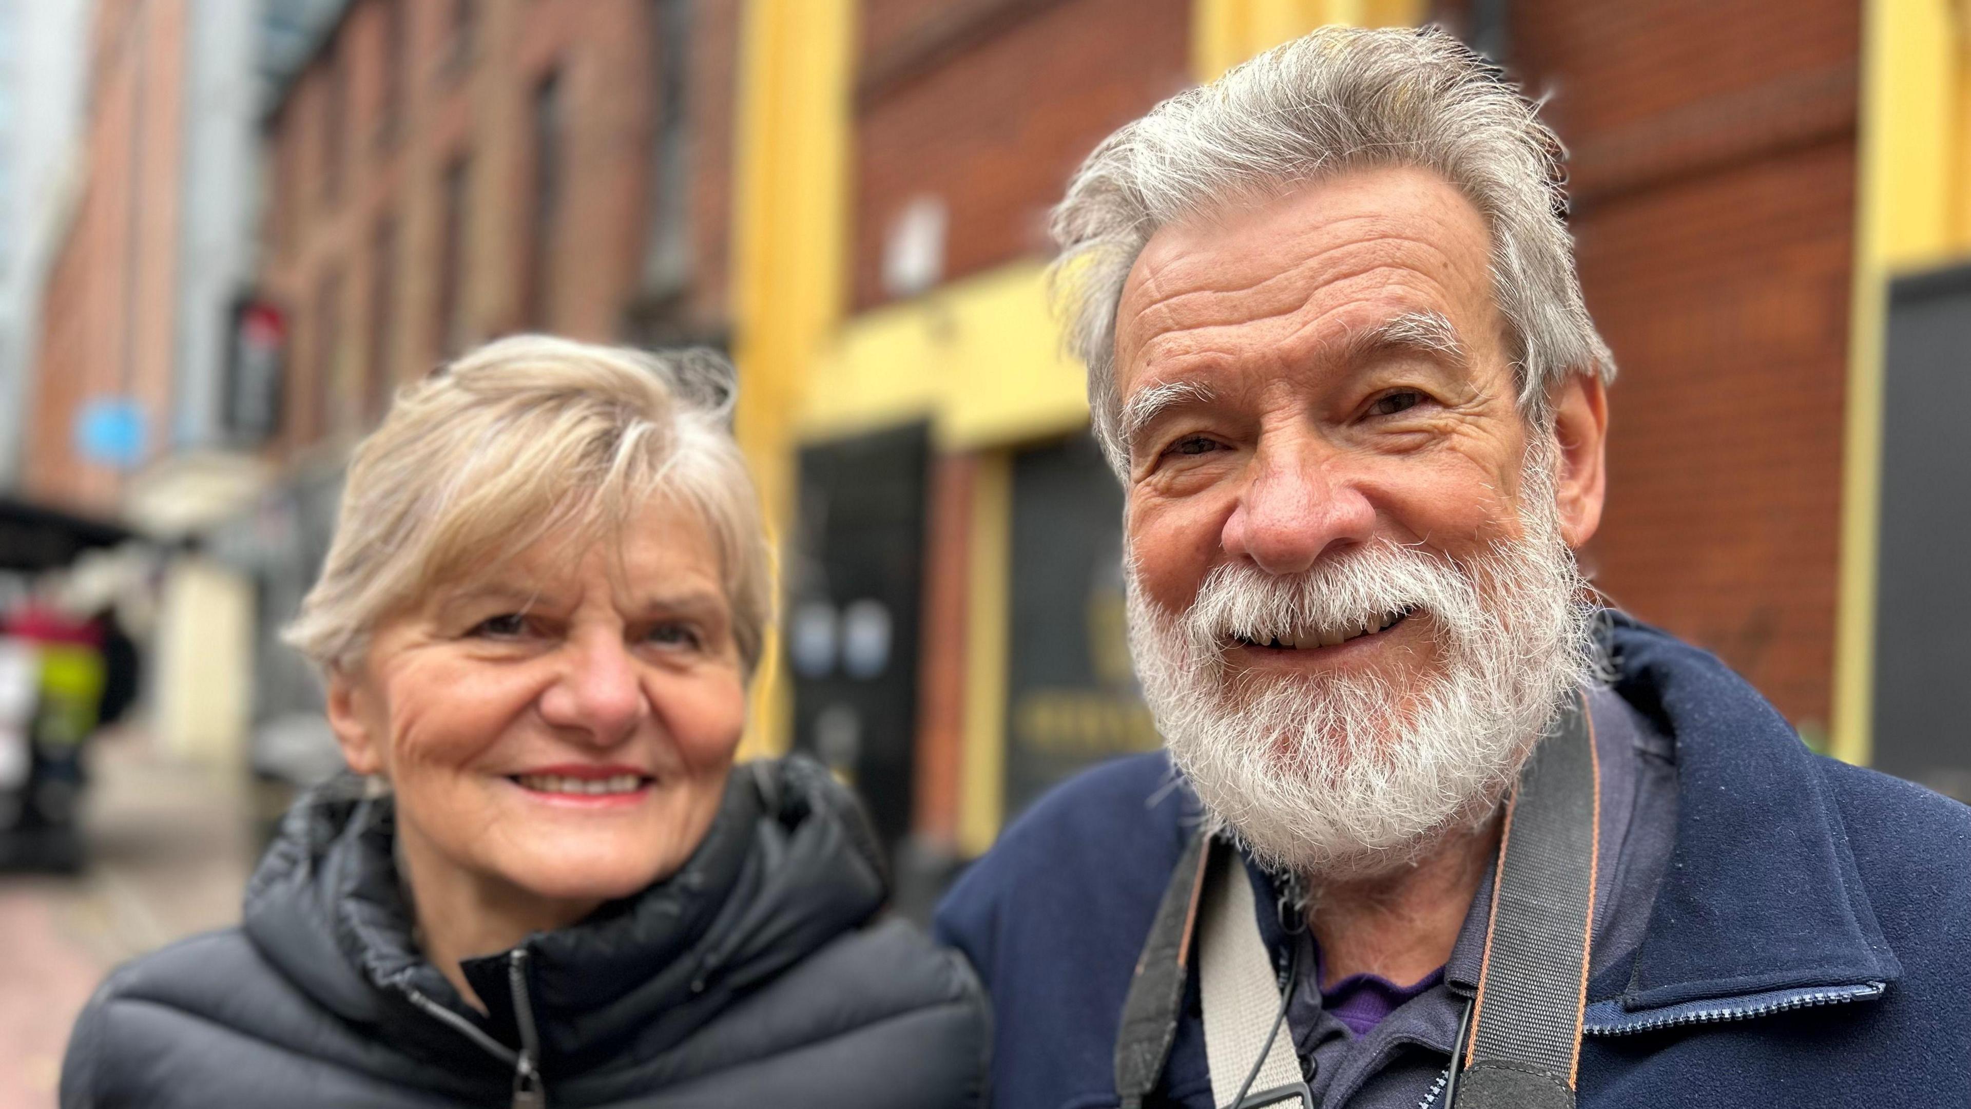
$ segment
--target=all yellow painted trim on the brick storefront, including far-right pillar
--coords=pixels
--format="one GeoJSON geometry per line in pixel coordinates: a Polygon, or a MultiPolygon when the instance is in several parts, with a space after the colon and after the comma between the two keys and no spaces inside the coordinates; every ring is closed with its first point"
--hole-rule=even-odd
{"type": "MultiPolygon", "coordinates": [[[[1086,422],[1043,262],[1019,260],[915,300],[844,314],[855,0],[749,0],[735,205],[737,432],[779,533],[794,452],[928,420],[978,452],[968,562],[958,847],[997,835],[1005,760],[1011,452],[1086,422]]],[[[1210,79],[1321,24],[1413,24],[1425,0],[1196,0],[1192,69],[1210,79]]],[[[1869,758],[1880,474],[1882,304],[1902,270],[1971,251],[1971,2],[1869,0],[1853,351],[1835,665],[1835,752],[1869,758]]],[[[769,659],[779,647],[771,645],[769,659]]],[[[788,746],[788,687],[769,661],[749,754],[788,746]]]]}

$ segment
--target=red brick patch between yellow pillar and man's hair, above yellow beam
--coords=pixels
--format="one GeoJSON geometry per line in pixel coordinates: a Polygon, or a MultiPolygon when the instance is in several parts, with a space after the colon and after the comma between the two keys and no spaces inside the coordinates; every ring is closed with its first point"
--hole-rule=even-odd
{"type": "Polygon", "coordinates": [[[918,195],[944,276],[1045,255],[1047,209],[1108,132],[1190,83],[1190,0],[867,0],[855,112],[853,306],[918,195]]]}

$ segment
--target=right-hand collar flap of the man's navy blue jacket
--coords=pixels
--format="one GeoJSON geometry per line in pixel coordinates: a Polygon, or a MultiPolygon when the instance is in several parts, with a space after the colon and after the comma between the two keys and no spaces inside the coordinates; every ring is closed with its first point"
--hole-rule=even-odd
{"type": "Polygon", "coordinates": [[[1880,995],[1902,967],[1817,756],[1711,653],[1618,612],[1606,641],[1614,691],[1675,740],[1677,835],[1634,963],[1589,983],[1589,1032],[1880,995]]]}

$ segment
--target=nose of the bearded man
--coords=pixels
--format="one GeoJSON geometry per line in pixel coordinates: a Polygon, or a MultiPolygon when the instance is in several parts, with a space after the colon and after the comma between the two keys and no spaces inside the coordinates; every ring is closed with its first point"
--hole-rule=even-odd
{"type": "Polygon", "coordinates": [[[1263,444],[1252,478],[1226,519],[1226,554],[1252,558],[1269,574],[1299,574],[1336,545],[1368,543],[1376,507],[1315,436],[1263,444]]]}

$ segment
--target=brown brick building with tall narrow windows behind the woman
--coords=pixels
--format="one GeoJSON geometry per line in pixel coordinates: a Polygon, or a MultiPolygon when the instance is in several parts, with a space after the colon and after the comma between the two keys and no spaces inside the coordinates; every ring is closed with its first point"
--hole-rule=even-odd
{"type": "Polygon", "coordinates": [[[272,478],[211,549],[256,582],[254,750],[319,774],[319,685],[280,643],[351,446],[481,341],[727,341],[737,0],[353,0],[298,8],[268,67],[252,312],[272,478]]]}

